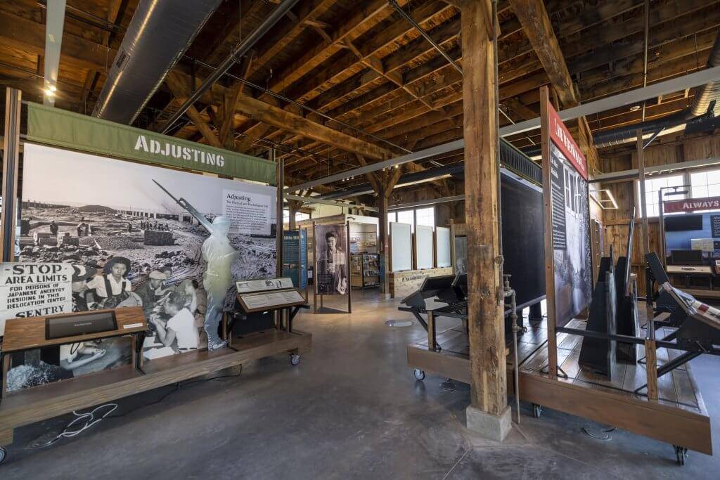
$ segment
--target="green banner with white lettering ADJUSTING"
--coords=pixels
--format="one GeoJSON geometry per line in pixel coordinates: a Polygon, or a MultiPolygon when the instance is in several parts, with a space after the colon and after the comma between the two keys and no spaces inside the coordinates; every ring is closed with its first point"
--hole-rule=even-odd
{"type": "Polygon", "coordinates": [[[27,109],[27,140],[275,184],[275,164],[269,160],[31,102],[27,109]]]}

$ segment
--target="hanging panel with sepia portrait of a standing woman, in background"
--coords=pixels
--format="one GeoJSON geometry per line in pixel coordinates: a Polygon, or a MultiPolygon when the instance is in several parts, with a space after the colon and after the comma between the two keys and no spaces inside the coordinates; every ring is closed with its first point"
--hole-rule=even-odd
{"type": "Polygon", "coordinates": [[[315,292],[346,295],[350,287],[346,225],[315,225],[315,292]]]}

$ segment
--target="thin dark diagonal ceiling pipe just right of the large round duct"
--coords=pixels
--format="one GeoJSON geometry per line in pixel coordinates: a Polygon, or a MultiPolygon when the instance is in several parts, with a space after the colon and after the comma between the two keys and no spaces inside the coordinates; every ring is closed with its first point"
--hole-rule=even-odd
{"type": "Polygon", "coordinates": [[[230,68],[235,65],[235,62],[238,60],[238,58],[243,57],[246,53],[248,53],[248,50],[250,50],[253,45],[255,45],[258,40],[263,37],[263,35],[266,34],[268,30],[270,30],[274,24],[276,24],[279,19],[285,16],[287,12],[292,9],[292,7],[297,4],[297,0],[284,0],[282,4],[279,4],[279,6],[274,9],[274,11],[270,14],[269,17],[265,19],[264,22],[260,24],[259,27],[257,27],[250,35],[248,35],[245,39],[243,39],[240,44],[233,49],[232,52],[230,52],[230,55],[228,55],[225,60],[222,60],[222,63],[220,65],[217,65],[217,68],[215,71],[210,73],[210,76],[205,78],[205,80],[202,82],[202,84],[197,87],[197,89],[189,96],[189,98],[185,101],[184,104],[180,106],[180,108],[172,114],[172,116],[168,119],[165,126],[163,127],[163,130],[161,133],[167,133],[168,130],[171,129],[173,124],[182,117],[182,115],[187,112],[187,109],[192,107],[192,104],[194,104],[202,94],[207,91],[207,89],[210,89],[213,83],[215,83],[220,77],[225,75],[225,73],[230,70],[230,68]]]}

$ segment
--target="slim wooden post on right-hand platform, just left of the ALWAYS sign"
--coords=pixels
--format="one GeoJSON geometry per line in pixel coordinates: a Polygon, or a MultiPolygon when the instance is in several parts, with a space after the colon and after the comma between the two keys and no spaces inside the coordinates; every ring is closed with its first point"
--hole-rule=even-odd
{"type": "MultiPolygon", "coordinates": [[[[647,199],[645,198],[645,152],[642,141],[642,130],[638,130],[636,141],[637,150],[637,171],[640,184],[640,215],[642,218],[642,258],[650,251],[650,233],[647,225],[647,199]]],[[[662,204],[659,205],[662,209],[662,204]]],[[[647,361],[645,373],[647,373],[647,398],[657,402],[657,353],[655,348],[655,322],[654,309],[652,307],[652,283],[645,274],[645,314],[647,315],[647,338],[645,340],[645,359],[647,361]]]]}

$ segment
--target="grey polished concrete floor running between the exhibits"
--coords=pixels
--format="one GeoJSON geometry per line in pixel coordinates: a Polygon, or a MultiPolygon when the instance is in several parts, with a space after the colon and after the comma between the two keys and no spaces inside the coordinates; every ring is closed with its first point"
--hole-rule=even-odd
{"type": "MultiPolygon", "coordinates": [[[[123,417],[50,448],[31,445],[71,416],[16,430],[0,479],[717,478],[720,454],[690,452],[680,467],[671,445],[618,430],[597,440],[581,429],[600,425],[547,409],[534,419],[527,404],[505,443],[478,438],[464,427],[469,386],[415,381],[405,345],[426,334],[416,323],[387,327],[408,314],[377,296],[354,294],[351,315],[300,317],[296,327],[313,334],[300,366],[276,356],[237,378],[122,399],[113,415],[123,417]]],[[[716,419],[719,367],[716,357],[693,361],[716,419]]],[[[719,445],[717,421],[713,434],[719,445]]]]}

